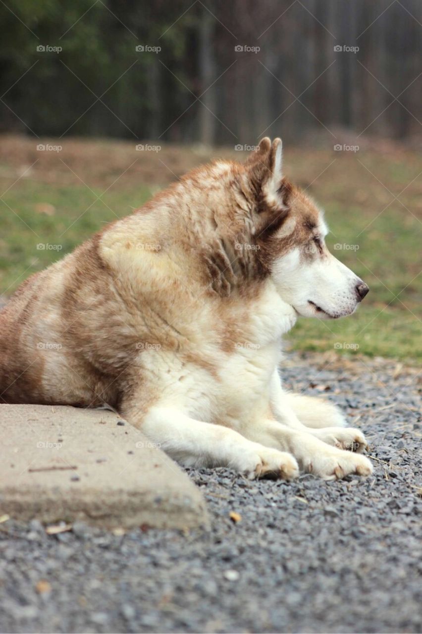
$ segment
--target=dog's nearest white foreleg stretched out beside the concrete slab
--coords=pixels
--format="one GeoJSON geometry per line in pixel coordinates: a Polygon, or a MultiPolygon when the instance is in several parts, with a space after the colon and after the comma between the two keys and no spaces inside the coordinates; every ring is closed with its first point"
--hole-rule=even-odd
{"type": "Polygon", "coordinates": [[[156,406],[137,420],[132,406],[127,420],[185,467],[229,467],[250,479],[298,475],[289,453],[253,443],[228,427],[189,418],[176,408],[156,406]]]}

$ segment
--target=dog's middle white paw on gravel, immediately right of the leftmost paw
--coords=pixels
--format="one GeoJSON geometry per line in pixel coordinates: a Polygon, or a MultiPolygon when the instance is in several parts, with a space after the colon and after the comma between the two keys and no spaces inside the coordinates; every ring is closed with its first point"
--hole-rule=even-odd
{"type": "Polygon", "coordinates": [[[312,456],[312,460],[307,461],[304,467],[308,473],[319,475],[324,480],[340,480],[351,474],[368,476],[373,472],[368,458],[337,448],[312,456]]]}

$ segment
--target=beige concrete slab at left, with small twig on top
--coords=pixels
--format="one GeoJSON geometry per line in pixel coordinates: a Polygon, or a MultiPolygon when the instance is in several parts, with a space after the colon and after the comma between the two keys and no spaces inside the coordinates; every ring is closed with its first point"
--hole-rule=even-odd
{"type": "Polygon", "coordinates": [[[106,528],[207,525],[199,489],[105,410],[0,405],[0,515],[106,528]]]}

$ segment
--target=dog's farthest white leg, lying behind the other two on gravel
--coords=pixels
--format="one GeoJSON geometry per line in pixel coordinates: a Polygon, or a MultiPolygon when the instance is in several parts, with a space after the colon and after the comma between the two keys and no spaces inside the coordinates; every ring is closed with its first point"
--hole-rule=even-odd
{"type": "Polygon", "coordinates": [[[310,396],[285,392],[281,387],[281,379],[277,370],[271,380],[271,410],[276,420],[286,427],[307,432],[324,443],[339,449],[361,453],[368,447],[366,438],[359,429],[343,427],[342,414],[335,405],[310,396]],[[312,408],[314,408],[314,413],[312,413],[312,408]],[[319,424],[308,427],[312,417],[312,422],[319,424]]]}

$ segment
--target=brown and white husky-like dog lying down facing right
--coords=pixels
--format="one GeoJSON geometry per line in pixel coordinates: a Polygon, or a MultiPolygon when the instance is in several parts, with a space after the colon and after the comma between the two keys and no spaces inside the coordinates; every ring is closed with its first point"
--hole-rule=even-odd
{"type": "Polygon", "coordinates": [[[369,290],[282,159],[264,138],[198,167],[26,280],[0,313],[0,402],[106,404],[186,467],[371,474],[364,435],[279,377],[298,316],[349,315],[369,290]]]}

